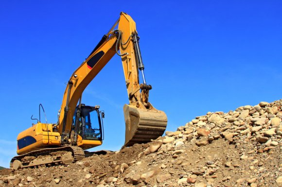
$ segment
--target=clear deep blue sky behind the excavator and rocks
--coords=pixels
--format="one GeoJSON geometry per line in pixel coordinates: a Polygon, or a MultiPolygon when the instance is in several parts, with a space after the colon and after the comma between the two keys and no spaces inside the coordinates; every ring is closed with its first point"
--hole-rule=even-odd
{"type": "MultiPolygon", "coordinates": [[[[282,1],[160,0],[0,2],[0,166],[42,103],[56,122],[67,82],[121,11],[136,22],[151,103],[167,130],[208,111],[281,99],[282,1]]],[[[115,56],[88,85],[88,105],[105,110],[105,141],[124,142],[123,69],[115,56]]]]}

